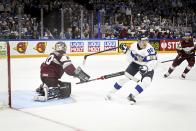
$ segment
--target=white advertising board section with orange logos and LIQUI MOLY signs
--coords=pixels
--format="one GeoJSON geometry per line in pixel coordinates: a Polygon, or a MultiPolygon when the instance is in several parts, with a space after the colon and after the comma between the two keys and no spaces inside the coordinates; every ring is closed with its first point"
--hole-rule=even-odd
{"type": "MultiPolygon", "coordinates": [[[[41,57],[54,51],[55,43],[65,42],[68,55],[85,55],[118,46],[118,40],[9,41],[11,57],[41,57]]],[[[118,49],[103,54],[117,54],[118,49]]]]}

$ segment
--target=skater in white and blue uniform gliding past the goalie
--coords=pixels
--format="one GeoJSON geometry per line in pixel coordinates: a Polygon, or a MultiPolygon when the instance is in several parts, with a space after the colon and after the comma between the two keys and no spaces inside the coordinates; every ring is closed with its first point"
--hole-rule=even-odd
{"type": "Polygon", "coordinates": [[[130,75],[135,76],[139,72],[141,80],[135,86],[134,91],[127,97],[128,102],[134,104],[136,102],[135,97],[151,84],[157,64],[157,55],[154,48],[149,44],[148,38],[141,38],[138,42],[133,43],[130,48],[125,44],[121,44],[120,49],[128,56],[130,64],[125,70],[125,77],[114,84],[112,90],[106,95],[106,100],[112,99],[112,95],[131,80],[130,75]]]}

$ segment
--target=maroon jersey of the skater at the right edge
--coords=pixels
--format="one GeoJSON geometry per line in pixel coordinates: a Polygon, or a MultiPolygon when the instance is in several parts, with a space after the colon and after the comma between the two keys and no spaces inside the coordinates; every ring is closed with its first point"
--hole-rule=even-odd
{"type": "Polygon", "coordinates": [[[195,46],[193,43],[193,39],[189,39],[188,41],[182,40],[179,47],[177,48],[177,53],[183,58],[194,56],[195,46]]]}

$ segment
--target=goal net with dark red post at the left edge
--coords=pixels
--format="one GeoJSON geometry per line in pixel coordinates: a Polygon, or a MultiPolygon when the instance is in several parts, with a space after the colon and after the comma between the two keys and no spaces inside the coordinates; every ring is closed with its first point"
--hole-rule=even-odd
{"type": "Polygon", "coordinates": [[[11,107],[10,46],[0,41],[0,109],[11,107]]]}

